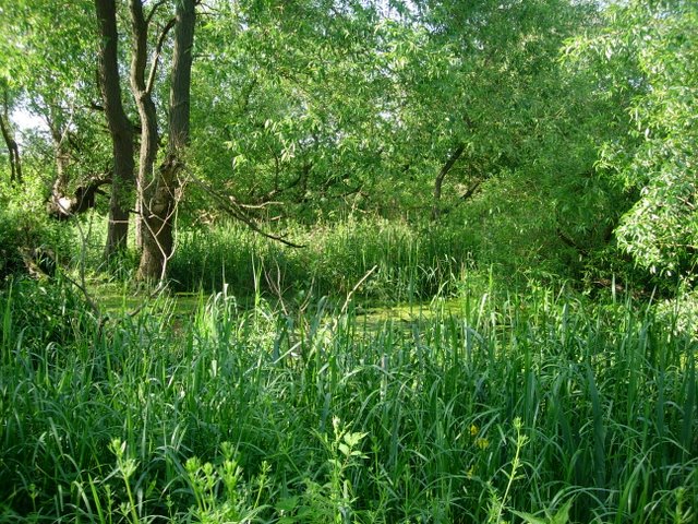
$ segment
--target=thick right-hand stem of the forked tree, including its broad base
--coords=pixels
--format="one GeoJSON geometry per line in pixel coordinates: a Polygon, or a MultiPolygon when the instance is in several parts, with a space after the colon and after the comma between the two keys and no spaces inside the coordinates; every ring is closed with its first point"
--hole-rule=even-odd
{"type": "Polygon", "coordinates": [[[176,213],[177,175],[189,143],[192,46],[194,43],[195,1],[177,2],[172,76],[170,83],[169,143],[167,157],[144,192],[145,230],[139,267],[141,279],[164,278],[172,255],[172,229],[176,213]]]}

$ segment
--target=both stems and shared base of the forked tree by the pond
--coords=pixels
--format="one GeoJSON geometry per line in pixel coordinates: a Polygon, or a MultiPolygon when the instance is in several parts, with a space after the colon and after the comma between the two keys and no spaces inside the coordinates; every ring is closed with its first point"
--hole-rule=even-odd
{"type": "Polygon", "coordinates": [[[131,21],[131,91],[141,122],[137,193],[142,253],[137,277],[144,281],[164,279],[167,262],[172,255],[172,230],[177,212],[178,172],[183,150],[189,140],[189,106],[191,88],[192,46],[196,22],[195,0],[178,0],[174,16],[160,28],[154,46],[149,46],[151,29],[156,11],[165,2],[157,2],[146,14],[141,0],[129,0],[131,21]],[[154,88],[163,46],[174,28],[170,99],[167,107],[168,148],[165,160],[156,166],[160,132],[154,88]],[[152,49],[151,49],[152,47],[152,49]],[[148,53],[151,62],[148,70],[148,53]]]}

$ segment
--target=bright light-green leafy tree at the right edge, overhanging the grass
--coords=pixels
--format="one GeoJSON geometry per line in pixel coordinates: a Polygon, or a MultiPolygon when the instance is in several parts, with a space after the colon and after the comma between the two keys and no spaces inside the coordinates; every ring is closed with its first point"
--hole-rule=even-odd
{"type": "Polygon", "coordinates": [[[626,100],[628,132],[609,141],[600,165],[638,196],[616,228],[618,243],[650,273],[693,279],[698,263],[698,4],[618,2],[606,25],[570,57],[626,100]]]}

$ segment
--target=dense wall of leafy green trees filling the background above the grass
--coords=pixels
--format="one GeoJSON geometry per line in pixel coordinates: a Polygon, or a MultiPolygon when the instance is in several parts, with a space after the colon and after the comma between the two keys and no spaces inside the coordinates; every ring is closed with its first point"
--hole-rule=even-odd
{"type": "Polygon", "coordinates": [[[111,184],[107,252],[131,210],[142,277],[166,274],[170,228],[369,214],[469,231],[504,273],[691,281],[693,2],[194,2],[179,48],[178,2],[113,2],[116,34],[109,3],[1,4],[3,209],[106,213],[111,184]]]}

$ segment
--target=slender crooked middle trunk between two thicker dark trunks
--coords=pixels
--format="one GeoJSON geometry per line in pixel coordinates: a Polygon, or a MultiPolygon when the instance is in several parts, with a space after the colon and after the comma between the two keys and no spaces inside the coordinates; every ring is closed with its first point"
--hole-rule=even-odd
{"type": "MultiPolygon", "coordinates": [[[[147,36],[148,27],[143,14],[143,3],[141,0],[129,0],[129,10],[131,12],[131,34],[133,37],[133,49],[131,57],[131,91],[139,108],[139,117],[141,119],[141,152],[139,158],[139,174],[136,179],[137,188],[137,211],[139,223],[141,227],[141,237],[143,242],[143,259],[148,258],[146,251],[152,253],[160,251],[157,243],[157,225],[152,224],[152,207],[157,204],[153,202],[155,188],[157,187],[157,177],[154,178],[154,165],[158,151],[158,128],[157,112],[155,103],[151,92],[145,83],[145,67],[147,61],[147,36]]],[[[164,275],[157,271],[144,274],[139,269],[139,277],[144,279],[161,278],[164,275]]]]}

